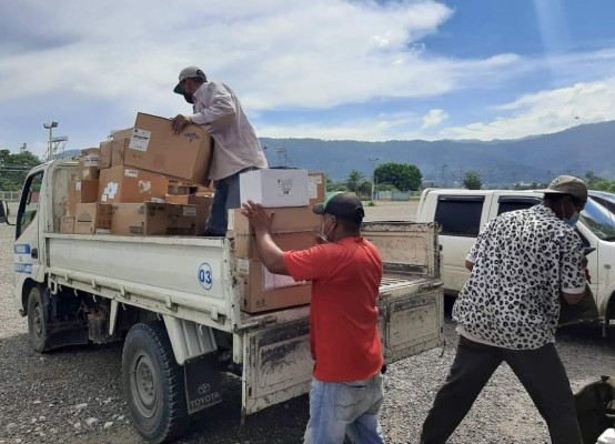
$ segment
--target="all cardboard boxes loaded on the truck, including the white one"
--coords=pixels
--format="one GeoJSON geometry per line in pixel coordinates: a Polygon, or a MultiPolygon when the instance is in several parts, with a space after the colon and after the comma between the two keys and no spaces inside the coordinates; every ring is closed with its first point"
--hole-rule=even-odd
{"type": "MultiPolygon", "coordinates": [[[[64,233],[202,235],[213,200],[208,169],[210,135],[189,125],[173,134],[169,119],[139,113],[134,128],[82,151],[70,178],[61,218],[64,233]]],[[[282,250],[315,244],[321,218],[312,205],[325,198],[325,176],[306,170],[256,170],[240,175],[241,201],[275,211],[272,234],[282,250]]],[[[311,283],[270,273],[254,232],[240,210],[229,212],[228,238],[243,278],[242,310],[259,313],[310,303],[311,283]]]]}

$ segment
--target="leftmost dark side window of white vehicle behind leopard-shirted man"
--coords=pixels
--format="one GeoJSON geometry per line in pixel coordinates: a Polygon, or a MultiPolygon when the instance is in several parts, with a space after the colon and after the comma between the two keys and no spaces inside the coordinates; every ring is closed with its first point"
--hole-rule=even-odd
{"type": "Polygon", "coordinates": [[[442,226],[441,234],[478,235],[484,201],[483,195],[438,195],[435,221],[442,226]]]}

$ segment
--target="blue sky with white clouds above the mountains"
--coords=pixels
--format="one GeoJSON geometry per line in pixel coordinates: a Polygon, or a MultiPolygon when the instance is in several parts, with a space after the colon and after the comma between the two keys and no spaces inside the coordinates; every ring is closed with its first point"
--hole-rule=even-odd
{"type": "Polygon", "coordinates": [[[0,0],[0,149],[191,113],[186,65],[259,137],[518,139],[615,120],[613,0],[0,0]]]}

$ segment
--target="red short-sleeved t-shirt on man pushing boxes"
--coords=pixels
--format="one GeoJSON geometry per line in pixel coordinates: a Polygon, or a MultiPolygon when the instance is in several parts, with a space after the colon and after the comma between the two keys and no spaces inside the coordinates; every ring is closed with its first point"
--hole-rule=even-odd
{"type": "Polygon", "coordinates": [[[335,243],[284,253],[295,281],[312,281],[310,345],[314,376],[324,382],[362,381],[384,363],[377,332],[382,256],[367,240],[335,243]]]}

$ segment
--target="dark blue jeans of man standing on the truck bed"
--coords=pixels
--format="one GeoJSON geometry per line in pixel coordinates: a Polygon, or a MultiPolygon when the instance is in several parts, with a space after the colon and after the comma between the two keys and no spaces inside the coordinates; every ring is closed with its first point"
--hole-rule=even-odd
{"type": "Polygon", "coordinates": [[[226,234],[229,210],[241,208],[239,175],[251,170],[255,170],[255,168],[246,168],[215,181],[215,194],[205,224],[205,235],[223,236],[226,234]]]}

